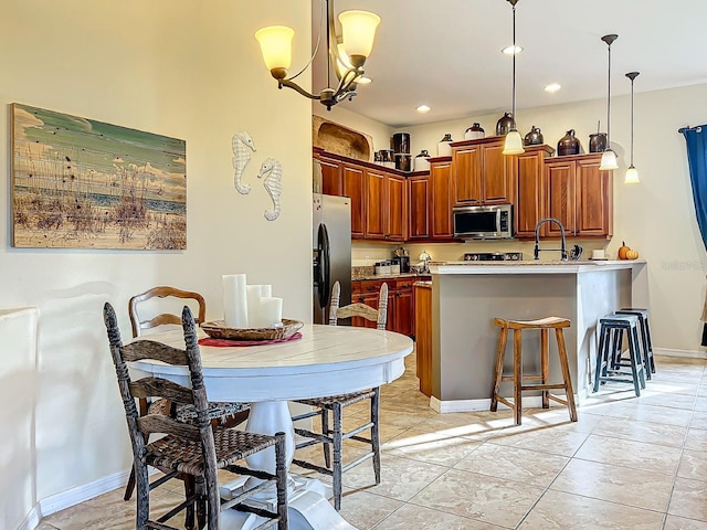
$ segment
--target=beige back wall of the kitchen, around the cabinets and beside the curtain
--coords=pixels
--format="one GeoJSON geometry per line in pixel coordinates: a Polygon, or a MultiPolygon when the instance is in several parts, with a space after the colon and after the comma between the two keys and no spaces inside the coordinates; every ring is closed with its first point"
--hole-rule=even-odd
{"type": "MultiPolygon", "coordinates": [[[[595,130],[597,121],[605,121],[605,103],[591,100],[519,109],[518,129],[525,135],[536,125],[542,130],[546,144],[556,147],[564,132],[573,128],[582,148],[588,150],[589,135],[595,130]]],[[[408,127],[412,152],[428,149],[434,153],[436,142],[445,132],[451,132],[455,140],[463,139],[464,130],[474,121],[479,121],[486,134],[493,135],[498,117],[500,113],[408,127]]],[[[707,84],[636,94],[634,159],[642,183],[625,186],[623,176],[629,165],[631,140],[630,98],[612,98],[612,147],[620,157],[620,169],[615,171],[614,180],[614,237],[604,243],[611,256],[616,255],[621,242],[625,241],[647,259],[654,342],[664,349],[704,351],[699,347],[699,318],[707,255],[694,212],[685,140],[677,129],[705,123],[707,84]]],[[[604,243],[580,242],[585,250],[604,243]]],[[[419,255],[422,247],[435,259],[458,259],[464,252],[474,251],[520,250],[527,255],[532,252],[530,243],[478,242],[410,245],[411,256],[419,255]]],[[[356,264],[363,264],[366,256],[389,256],[392,248],[392,245],[357,244],[352,258],[356,264]]]]}

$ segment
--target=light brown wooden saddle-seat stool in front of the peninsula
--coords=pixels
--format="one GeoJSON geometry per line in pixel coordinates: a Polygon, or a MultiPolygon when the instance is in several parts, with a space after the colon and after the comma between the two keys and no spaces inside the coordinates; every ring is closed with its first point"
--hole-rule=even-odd
{"type": "Polygon", "coordinates": [[[490,410],[496,412],[498,402],[509,406],[514,411],[516,425],[520,425],[521,411],[521,393],[525,390],[542,391],[542,409],[550,406],[550,400],[567,405],[570,412],[570,420],[577,421],[577,407],[574,406],[574,393],[572,392],[572,378],[570,375],[570,365],[567,359],[567,348],[564,346],[563,328],[570,327],[567,318],[547,317],[539,320],[504,320],[503,318],[494,319],[494,326],[500,328],[498,336],[498,349],[496,351],[496,369],[494,372],[494,388],[490,396],[490,410]],[[504,375],[504,358],[506,357],[506,342],[508,339],[508,330],[513,329],[513,375],[504,375]],[[540,330],[540,374],[524,375],[523,374],[523,351],[521,351],[521,333],[524,329],[540,330]],[[555,329],[557,340],[557,352],[560,358],[560,368],[562,370],[562,383],[550,384],[550,362],[549,351],[550,342],[548,339],[548,330],[555,329]],[[514,399],[513,402],[498,395],[498,388],[502,382],[513,381],[514,399]],[[539,381],[536,384],[524,384],[525,381],[539,381]],[[564,390],[566,399],[550,394],[550,390],[564,390]]]}

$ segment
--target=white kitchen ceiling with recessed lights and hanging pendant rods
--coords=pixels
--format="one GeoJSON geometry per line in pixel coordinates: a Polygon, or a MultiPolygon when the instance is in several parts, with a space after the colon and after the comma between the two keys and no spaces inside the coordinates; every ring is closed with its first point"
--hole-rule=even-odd
{"type": "MultiPolygon", "coordinates": [[[[319,21],[313,1],[313,26],[319,21]]],[[[392,127],[484,114],[511,104],[513,42],[507,0],[337,0],[336,11],[366,9],[382,22],[366,75],[352,102],[339,105],[392,127]],[[426,115],[415,107],[426,104],[426,115]]],[[[707,82],[704,34],[707,0],[519,0],[516,41],[517,109],[606,97],[608,49],[613,43],[613,95],[707,82]],[[548,94],[544,86],[562,85],[548,94]]],[[[313,28],[313,32],[315,28],[313,28]]],[[[296,65],[293,65],[293,70],[296,65]]],[[[326,84],[315,61],[313,88],[326,84]]]]}

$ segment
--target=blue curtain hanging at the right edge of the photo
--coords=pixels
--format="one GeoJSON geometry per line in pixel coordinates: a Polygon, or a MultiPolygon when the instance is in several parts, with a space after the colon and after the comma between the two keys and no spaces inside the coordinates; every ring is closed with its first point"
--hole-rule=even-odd
{"type": "MultiPolygon", "coordinates": [[[[693,200],[695,213],[703,243],[707,248],[707,125],[679,129],[687,142],[687,162],[689,179],[693,183],[693,200]]],[[[707,300],[705,300],[707,311],[707,300]]],[[[707,317],[703,315],[703,320],[707,317]]],[[[701,346],[707,346],[707,322],[703,326],[701,346]]]]}

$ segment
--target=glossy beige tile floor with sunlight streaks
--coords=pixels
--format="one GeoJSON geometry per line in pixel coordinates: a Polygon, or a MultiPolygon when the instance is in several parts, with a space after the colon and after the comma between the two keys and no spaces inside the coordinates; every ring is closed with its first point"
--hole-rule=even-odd
{"type": "MultiPolygon", "coordinates": [[[[358,529],[707,530],[707,361],[659,358],[640,399],[608,383],[578,423],[553,407],[524,411],[516,427],[510,411],[434,413],[412,357],[382,390],[382,484],[368,463],[344,476],[341,513],[358,529]]],[[[180,484],[157,490],[156,504],[178,498],[180,484]]],[[[122,496],[54,513],[39,529],[134,528],[134,502],[122,496]]]]}

